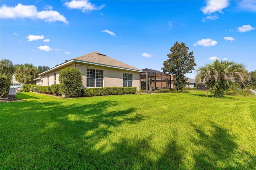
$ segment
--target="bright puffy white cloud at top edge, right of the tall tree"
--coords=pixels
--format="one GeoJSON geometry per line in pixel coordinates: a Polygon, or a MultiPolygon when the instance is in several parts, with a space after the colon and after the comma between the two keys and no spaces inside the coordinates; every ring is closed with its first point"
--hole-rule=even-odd
{"type": "Polygon", "coordinates": [[[201,10],[204,14],[208,14],[208,15],[215,12],[222,13],[222,10],[224,8],[227,8],[228,5],[229,5],[228,0],[207,0],[206,6],[203,6],[201,10]]]}

